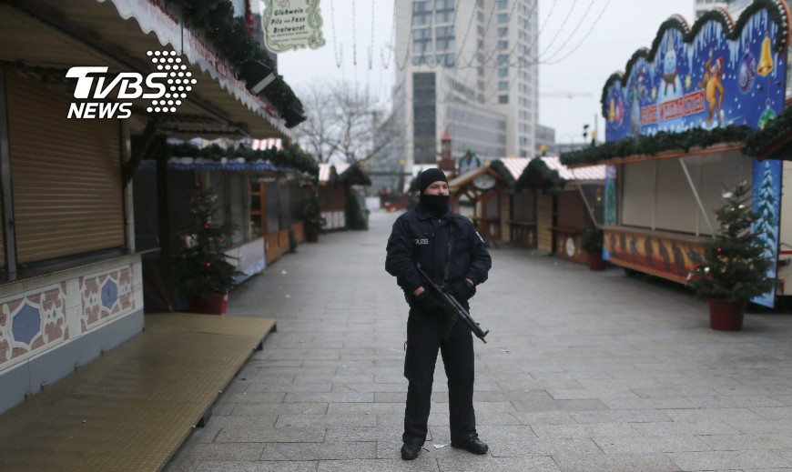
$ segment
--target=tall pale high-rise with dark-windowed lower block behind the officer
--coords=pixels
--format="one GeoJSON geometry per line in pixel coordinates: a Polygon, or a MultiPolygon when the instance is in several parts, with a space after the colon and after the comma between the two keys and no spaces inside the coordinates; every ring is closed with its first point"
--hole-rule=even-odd
{"type": "Polygon", "coordinates": [[[396,0],[396,82],[406,169],[452,156],[533,156],[537,0],[396,0]]]}

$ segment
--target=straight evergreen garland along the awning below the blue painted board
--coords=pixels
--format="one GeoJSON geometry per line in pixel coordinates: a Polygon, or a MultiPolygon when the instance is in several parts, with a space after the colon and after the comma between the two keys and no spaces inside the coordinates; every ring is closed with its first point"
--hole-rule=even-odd
{"type": "Polygon", "coordinates": [[[660,131],[653,136],[629,136],[619,141],[586,147],[563,153],[564,166],[598,164],[617,157],[656,156],[668,151],[689,151],[694,147],[706,148],[722,143],[739,143],[754,131],[750,126],[729,125],[723,128],[690,128],[680,133],[660,131]]]}

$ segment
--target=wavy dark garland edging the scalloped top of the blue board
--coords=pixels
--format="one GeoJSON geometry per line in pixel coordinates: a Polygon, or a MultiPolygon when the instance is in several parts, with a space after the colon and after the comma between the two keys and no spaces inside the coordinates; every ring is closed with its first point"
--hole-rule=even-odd
{"type": "Polygon", "coordinates": [[[657,30],[657,35],[655,35],[655,40],[652,42],[651,49],[641,48],[635,51],[630,57],[630,60],[627,61],[627,65],[624,68],[626,72],[624,74],[614,73],[605,81],[603,93],[600,97],[603,116],[607,117],[608,115],[607,93],[610,86],[615,80],[621,81],[622,86],[626,86],[627,78],[632,71],[633,65],[639,58],[645,57],[646,62],[649,63],[654,61],[655,55],[660,50],[660,42],[666,30],[671,28],[677,29],[682,33],[683,42],[692,43],[693,40],[696,39],[696,35],[701,31],[701,28],[703,28],[707,22],[716,21],[723,25],[726,39],[735,41],[739,39],[739,35],[742,34],[743,28],[747,25],[748,18],[762,9],[767,10],[767,15],[769,15],[770,20],[778,26],[777,35],[773,38],[773,51],[777,54],[784,53],[789,45],[789,24],[787,22],[786,7],[782,5],[779,0],[754,0],[751,5],[748,5],[746,9],[743,10],[743,13],[740,14],[734,25],[731,24],[731,17],[727,16],[726,13],[720,9],[710,10],[704,15],[701,15],[689,30],[685,22],[676,16],[672,16],[660,25],[660,28],[657,30]]]}

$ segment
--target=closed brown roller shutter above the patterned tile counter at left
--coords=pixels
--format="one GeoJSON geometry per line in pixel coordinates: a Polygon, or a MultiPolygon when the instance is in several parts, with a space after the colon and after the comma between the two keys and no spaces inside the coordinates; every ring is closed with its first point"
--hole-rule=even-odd
{"type": "Polygon", "coordinates": [[[68,95],[6,78],[19,262],[124,246],[118,121],[66,119],[68,95]]]}

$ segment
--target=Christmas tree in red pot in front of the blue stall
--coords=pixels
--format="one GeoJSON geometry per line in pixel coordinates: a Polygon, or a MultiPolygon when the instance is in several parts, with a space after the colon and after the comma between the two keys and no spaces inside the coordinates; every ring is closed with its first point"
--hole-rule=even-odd
{"type": "Polygon", "coordinates": [[[724,199],[716,210],[720,227],[715,237],[702,242],[702,262],[693,266],[687,284],[708,300],[713,329],[736,331],[742,329],[747,302],[772,288],[767,274],[773,263],[764,256],[762,234],[751,232],[759,215],[750,208],[747,183],[726,192],[724,199]]]}

